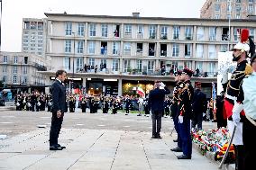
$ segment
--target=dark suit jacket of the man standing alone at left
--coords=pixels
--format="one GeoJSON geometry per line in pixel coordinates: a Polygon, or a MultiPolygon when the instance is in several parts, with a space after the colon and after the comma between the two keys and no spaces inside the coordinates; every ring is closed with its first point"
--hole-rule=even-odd
{"type": "Polygon", "coordinates": [[[52,109],[51,112],[67,112],[66,107],[66,87],[58,80],[51,85],[52,109]]]}

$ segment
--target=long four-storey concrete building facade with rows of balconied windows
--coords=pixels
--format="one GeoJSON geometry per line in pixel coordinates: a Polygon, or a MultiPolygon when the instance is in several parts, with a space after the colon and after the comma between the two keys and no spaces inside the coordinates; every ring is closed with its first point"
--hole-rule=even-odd
{"type": "Polygon", "coordinates": [[[256,28],[255,22],[233,20],[228,48],[227,20],[140,17],[139,13],[45,14],[46,58],[51,67],[44,74],[54,76],[65,69],[69,77],[78,78],[75,86],[85,87],[88,94],[121,95],[131,85],[142,85],[149,92],[156,79],[171,86],[172,73],[184,67],[198,68],[192,80],[211,87],[216,82],[217,52],[232,49],[237,30],[244,25],[253,37],[256,28]]]}

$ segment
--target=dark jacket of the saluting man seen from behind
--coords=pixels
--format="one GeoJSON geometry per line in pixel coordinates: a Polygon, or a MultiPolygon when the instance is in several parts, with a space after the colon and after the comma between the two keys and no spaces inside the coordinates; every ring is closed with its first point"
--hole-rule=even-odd
{"type": "Polygon", "coordinates": [[[151,90],[149,95],[149,108],[152,112],[164,110],[165,94],[170,94],[170,91],[166,86],[164,89],[156,88],[151,90]]]}

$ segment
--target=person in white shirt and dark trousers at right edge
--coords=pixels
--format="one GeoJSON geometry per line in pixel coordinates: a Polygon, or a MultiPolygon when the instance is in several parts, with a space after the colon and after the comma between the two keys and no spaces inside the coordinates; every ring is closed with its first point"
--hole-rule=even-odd
{"type": "Polygon", "coordinates": [[[233,114],[236,114],[242,109],[245,112],[242,125],[244,170],[251,169],[255,165],[254,161],[256,160],[256,54],[251,58],[251,68],[252,73],[244,77],[242,88],[240,88],[240,94],[237,99],[238,102],[241,102],[240,107],[237,107],[233,112],[233,114]]]}

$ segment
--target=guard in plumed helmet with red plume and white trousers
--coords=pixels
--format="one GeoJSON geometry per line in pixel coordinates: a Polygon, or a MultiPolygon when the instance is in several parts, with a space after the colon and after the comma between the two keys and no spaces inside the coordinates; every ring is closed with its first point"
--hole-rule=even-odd
{"type": "Polygon", "coordinates": [[[244,170],[243,168],[243,141],[242,141],[242,122],[245,119],[245,114],[242,111],[241,101],[237,101],[237,97],[240,93],[242,79],[244,78],[245,69],[248,66],[246,58],[250,53],[255,51],[254,43],[249,38],[249,30],[243,29],[241,32],[241,40],[233,48],[233,61],[237,62],[237,67],[233,72],[231,79],[227,79],[227,71],[223,75],[222,84],[224,90],[226,86],[226,95],[224,99],[225,117],[228,119],[227,126],[231,133],[233,133],[234,126],[236,130],[233,137],[233,145],[235,152],[235,167],[238,170],[244,170]],[[250,41],[250,46],[247,41],[250,41]],[[252,51],[252,52],[251,52],[252,51]]]}

